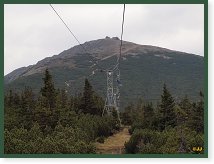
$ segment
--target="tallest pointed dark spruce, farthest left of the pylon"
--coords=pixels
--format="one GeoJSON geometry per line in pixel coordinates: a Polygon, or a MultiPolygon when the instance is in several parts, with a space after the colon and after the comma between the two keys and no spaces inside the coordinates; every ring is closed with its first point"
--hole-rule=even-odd
{"type": "Polygon", "coordinates": [[[52,76],[48,69],[45,70],[45,77],[43,78],[44,87],[41,88],[41,94],[43,96],[43,105],[50,110],[53,110],[56,104],[56,89],[52,81],[52,76]]]}

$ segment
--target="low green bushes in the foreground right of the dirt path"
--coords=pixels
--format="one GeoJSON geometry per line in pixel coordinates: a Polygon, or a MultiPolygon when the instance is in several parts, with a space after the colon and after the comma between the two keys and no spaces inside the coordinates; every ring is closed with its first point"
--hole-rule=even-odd
{"type": "Polygon", "coordinates": [[[202,134],[192,131],[187,127],[177,126],[167,128],[160,132],[148,129],[135,129],[130,140],[125,143],[126,153],[164,153],[176,154],[184,153],[203,153],[194,152],[193,147],[202,147],[204,138],[202,134]],[[182,129],[182,136],[180,130],[182,129]]]}

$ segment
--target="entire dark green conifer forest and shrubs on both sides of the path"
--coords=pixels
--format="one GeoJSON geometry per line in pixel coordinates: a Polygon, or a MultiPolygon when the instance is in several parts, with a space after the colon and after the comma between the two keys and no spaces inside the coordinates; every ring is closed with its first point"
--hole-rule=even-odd
{"type": "Polygon", "coordinates": [[[203,153],[204,96],[198,101],[187,96],[175,101],[163,85],[160,102],[143,97],[130,103],[118,120],[117,112],[104,113],[104,99],[85,79],[82,93],[69,95],[54,86],[46,69],[39,93],[30,87],[22,92],[10,90],[4,98],[4,151],[6,154],[95,154],[97,142],[124,127],[129,141],[122,153],[177,154],[203,153]]]}

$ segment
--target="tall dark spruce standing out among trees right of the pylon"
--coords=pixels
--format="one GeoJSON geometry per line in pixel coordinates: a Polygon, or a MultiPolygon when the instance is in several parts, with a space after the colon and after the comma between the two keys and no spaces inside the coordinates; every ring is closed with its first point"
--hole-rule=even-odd
{"type": "Polygon", "coordinates": [[[159,129],[164,130],[167,126],[176,126],[175,102],[170,92],[163,86],[163,94],[161,95],[161,104],[159,106],[159,129]]]}

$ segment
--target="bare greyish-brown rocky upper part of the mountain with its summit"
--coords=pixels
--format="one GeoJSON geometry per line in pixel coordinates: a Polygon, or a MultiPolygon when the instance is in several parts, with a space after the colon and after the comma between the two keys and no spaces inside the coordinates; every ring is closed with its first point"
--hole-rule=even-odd
{"type": "MultiPolygon", "coordinates": [[[[108,37],[105,39],[93,40],[90,42],[85,42],[83,47],[87,50],[87,53],[92,55],[97,60],[105,60],[112,56],[119,55],[120,50],[120,39],[118,37],[108,37]]],[[[123,41],[122,54],[126,55],[135,55],[137,53],[147,54],[152,52],[172,52],[172,50],[149,46],[149,45],[139,45],[127,41],[123,41]]],[[[41,61],[39,61],[35,65],[31,65],[28,67],[22,67],[16,69],[15,71],[9,73],[5,76],[5,82],[9,83],[13,80],[22,77],[28,76],[35,73],[41,73],[45,70],[45,68],[53,68],[58,66],[68,66],[70,68],[75,67],[75,61],[72,59],[79,54],[85,54],[86,52],[80,45],[74,46],[68,50],[61,52],[58,55],[54,55],[52,57],[47,57],[41,61]]]]}

